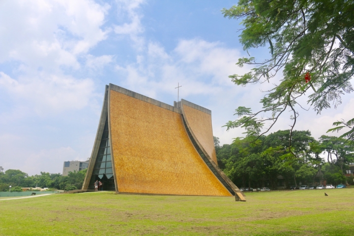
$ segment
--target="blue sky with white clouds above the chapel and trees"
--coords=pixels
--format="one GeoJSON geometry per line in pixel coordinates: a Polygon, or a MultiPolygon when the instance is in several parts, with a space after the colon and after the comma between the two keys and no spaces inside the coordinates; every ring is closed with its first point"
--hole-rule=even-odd
{"type": "MultiPolygon", "coordinates": [[[[63,162],[92,151],[105,85],[116,84],[173,105],[179,98],[212,111],[221,144],[242,137],[226,131],[238,106],[261,108],[261,90],[229,75],[250,67],[238,41],[239,21],[223,17],[230,0],[0,1],[0,166],[29,175],[62,173],[63,162]]],[[[267,57],[269,49],[249,51],[267,57]]],[[[276,80],[280,80],[277,75],[276,80]]],[[[300,110],[296,130],[315,138],[353,117],[354,95],[317,115],[300,110]]],[[[285,113],[271,132],[290,128],[285,113]]],[[[333,133],[330,135],[338,135],[333,133]]]]}

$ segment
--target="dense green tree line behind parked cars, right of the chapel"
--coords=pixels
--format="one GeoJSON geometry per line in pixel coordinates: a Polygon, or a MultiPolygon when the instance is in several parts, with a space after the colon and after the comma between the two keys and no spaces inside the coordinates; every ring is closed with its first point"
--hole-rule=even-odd
{"type": "Polygon", "coordinates": [[[290,137],[289,130],[255,139],[236,138],[220,146],[214,137],[218,165],[237,186],[276,189],[280,180],[286,188],[323,181],[354,184],[353,176],[345,176],[354,162],[354,145],[347,139],[322,135],[316,140],[310,131],[293,131],[290,137]]]}

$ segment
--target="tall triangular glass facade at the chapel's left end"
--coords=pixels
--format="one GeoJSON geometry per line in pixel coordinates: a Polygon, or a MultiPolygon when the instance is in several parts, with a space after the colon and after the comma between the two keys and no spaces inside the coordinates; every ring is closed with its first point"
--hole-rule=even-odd
{"type": "Polygon", "coordinates": [[[103,183],[102,188],[99,190],[116,191],[113,177],[108,118],[106,118],[101,143],[96,157],[96,162],[93,167],[91,180],[89,183],[89,189],[94,189],[94,183],[96,180],[101,181],[103,183]]]}

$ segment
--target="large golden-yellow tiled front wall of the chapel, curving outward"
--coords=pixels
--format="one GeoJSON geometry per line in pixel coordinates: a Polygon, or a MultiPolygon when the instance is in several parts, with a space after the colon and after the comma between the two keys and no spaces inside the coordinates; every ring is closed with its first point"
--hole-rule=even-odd
{"type": "Polygon", "coordinates": [[[232,196],[194,149],[180,114],[110,93],[119,192],[232,196]]]}

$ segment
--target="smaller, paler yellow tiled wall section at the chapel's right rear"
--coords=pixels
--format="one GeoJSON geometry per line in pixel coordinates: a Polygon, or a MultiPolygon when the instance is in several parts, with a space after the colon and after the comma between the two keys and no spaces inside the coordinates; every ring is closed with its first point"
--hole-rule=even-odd
{"type": "Polygon", "coordinates": [[[212,134],[211,115],[183,104],[184,119],[209,157],[217,165],[214,138],[212,134]]]}

